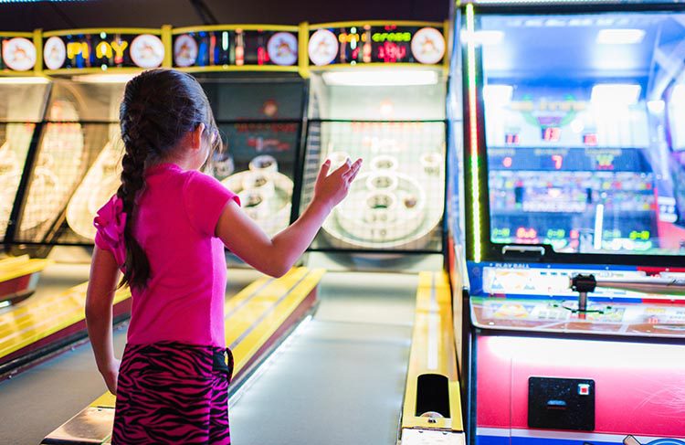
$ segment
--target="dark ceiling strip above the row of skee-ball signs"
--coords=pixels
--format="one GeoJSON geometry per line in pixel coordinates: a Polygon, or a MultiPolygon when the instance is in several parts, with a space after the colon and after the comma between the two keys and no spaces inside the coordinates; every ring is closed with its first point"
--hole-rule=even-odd
{"type": "Polygon", "coordinates": [[[449,0],[90,0],[0,5],[0,31],[448,18],[449,0]]]}

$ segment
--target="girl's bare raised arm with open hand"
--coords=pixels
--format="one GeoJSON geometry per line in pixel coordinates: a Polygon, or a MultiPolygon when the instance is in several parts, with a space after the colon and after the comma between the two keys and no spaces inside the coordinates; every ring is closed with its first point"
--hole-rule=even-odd
{"type": "Polygon", "coordinates": [[[345,164],[329,175],[326,161],[314,186],[314,197],[297,221],[269,238],[231,199],[216,224],[216,236],[241,260],[274,277],[284,275],[309,247],[333,207],[347,196],[362,160],[345,164]]]}

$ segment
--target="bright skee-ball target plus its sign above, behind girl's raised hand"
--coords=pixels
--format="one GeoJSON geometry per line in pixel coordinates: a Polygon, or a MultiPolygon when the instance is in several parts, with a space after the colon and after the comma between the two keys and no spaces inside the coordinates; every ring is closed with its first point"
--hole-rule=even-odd
{"type": "Polygon", "coordinates": [[[333,166],[364,158],[350,196],[326,220],[313,250],[442,251],[446,125],[439,64],[447,58],[436,25],[311,26],[300,211],[326,158],[333,166]]]}

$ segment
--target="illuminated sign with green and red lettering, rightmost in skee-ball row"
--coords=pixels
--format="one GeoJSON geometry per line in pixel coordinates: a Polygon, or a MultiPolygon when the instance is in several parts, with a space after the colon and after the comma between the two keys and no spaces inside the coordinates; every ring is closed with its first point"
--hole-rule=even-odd
{"type": "Polygon", "coordinates": [[[435,65],[445,57],[445,37],[430,26],[341,26],[311,32],[309,56],[317,66],[360,63],[435,65]]]}

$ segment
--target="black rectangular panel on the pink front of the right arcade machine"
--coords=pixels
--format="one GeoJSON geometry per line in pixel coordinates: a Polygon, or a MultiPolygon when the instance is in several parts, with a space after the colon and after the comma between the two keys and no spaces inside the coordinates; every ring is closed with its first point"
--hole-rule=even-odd
{"type": "Polygon", "coordinates": [[[530,377],[528,426],[540,429],[595,429],[595,380],[530,377]]]}

